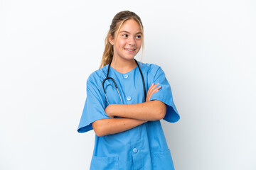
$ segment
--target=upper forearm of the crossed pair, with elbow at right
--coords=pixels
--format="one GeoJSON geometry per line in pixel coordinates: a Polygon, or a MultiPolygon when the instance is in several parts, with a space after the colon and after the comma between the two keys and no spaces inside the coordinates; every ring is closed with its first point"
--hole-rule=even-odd
{"type": "Polygon", "coordinates": [[[138,120],[161,120],[166,114],[166,104],[157,100],[138,104],[112,104],[107,107],[107,115],[138,120]]]}

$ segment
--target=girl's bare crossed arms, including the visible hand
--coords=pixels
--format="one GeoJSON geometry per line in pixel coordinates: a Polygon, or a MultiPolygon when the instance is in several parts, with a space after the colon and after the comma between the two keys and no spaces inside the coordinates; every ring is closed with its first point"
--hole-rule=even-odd
{"type": "Polygon", "coordinates": [[[96,120],[92,128],[97,136],[105,136],[132,129],[151,120],[161,120],[166,114],[166,104],[161,101],[149,101],[152,94],[161,89],[152,84],[146,95],[146,102],[138,104],[111,104],[105,108],[107,119],[96,120]],[[114,118],[119,116],[122,118],[114,118]]]}

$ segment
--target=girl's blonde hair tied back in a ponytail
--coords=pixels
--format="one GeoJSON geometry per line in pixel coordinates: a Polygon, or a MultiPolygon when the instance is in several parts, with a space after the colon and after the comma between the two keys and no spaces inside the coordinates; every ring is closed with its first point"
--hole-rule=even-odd
{"type": "MultiPolygon", "coordinates": [[[[105,50],[102,55],[102,61],[100,63],[100,68],[105,67],[105,65],[110,64],[110,62],[113,59],[114,55],[114,48],[113,45],[110,43],[109,36],[111,35],[112,38],[114,38],[115,33],[119,33],[119,30],[124,23],[124,21],[127,21],[129,19],[134,19],[134,21],[137,21],[139,23],[139,26],[142,30],[142,55],[144,51],[144,33],[143,33],[143,25],[142,20],[137,16],[136,13],[132,11],[121,11],[117,13],[114,18],[112,19],[112,23],[110,25],[110,30],[107,33],[107,36],[105,38],[105,50]]],[[[114,39],[115,42],[116,39],[114,39]]]]}

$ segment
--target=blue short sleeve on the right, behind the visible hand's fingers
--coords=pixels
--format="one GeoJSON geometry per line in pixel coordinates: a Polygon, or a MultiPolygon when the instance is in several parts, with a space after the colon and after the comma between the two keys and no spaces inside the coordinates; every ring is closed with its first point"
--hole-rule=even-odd
{"type": "Polygon", "coordinates": [[[171,93],[171,86],[167,81],[164,71],[161,69],[161,67],[155,67],[154,69],[151,70],[152,82],[150,83],[159,83],[161,89],[159,89],[158,92],[151,96],[150,101],[159,100],[165,103],[166,115],[164,116],[164,120],[168,121],[169,123],[175,123],[180,119],[180,116],[174,104],[174,99],[171,93]]]}

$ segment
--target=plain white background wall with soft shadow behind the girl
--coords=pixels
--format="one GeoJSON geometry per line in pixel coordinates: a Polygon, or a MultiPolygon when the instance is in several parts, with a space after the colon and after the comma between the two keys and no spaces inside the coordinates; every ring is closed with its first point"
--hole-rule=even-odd
{"type": "Polygon", "coordinates": [[[176,170],[256,169],[252,0],[1,0],[0,169],[89,169],[85,83],[123,10],[142,18],[142,62],[171,84],[181,120],[161,123],[176,170]]]}

